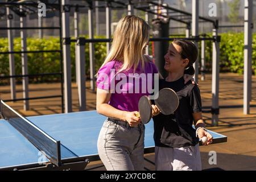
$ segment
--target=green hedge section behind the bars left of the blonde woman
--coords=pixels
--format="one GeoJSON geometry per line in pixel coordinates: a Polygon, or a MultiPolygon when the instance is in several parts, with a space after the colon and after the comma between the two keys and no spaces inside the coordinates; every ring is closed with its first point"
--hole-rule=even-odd
{"type": "MultiPolygon", "coordinates": [[[[103,36],[96,36],[96,38],[104,38],[103,36]]],[[[20,51],[20,38],[14,39],[14,51],[20,51]]],[[[59,38],[48,39],[27,39],[27,50],[56,50],[60,49],[59,38]]],[[[96,70],[98,70],[106,57],[106,43],[94,43],[96,70]]],[[[8,40],[6,38],[0,39],[0,52],[8,51],[8,40]]],[[[60,53],[28,53],[28,74],[37,73],[55,73],[60,72],[60,53]]],[[[15,74],[22,74],[22,63],[20,54],[15,54],[15,74]]],[[[85,46],[85,60],[86,60],[86,76],[89,76],[89,44],[85,46]]],[[[71,44],[71,69],[72,80],[75,80],[75,43],[71,44]]],[[[0,75],[9,75],[9,55],[0,54],[0,75]]],[[[58,76],[43,76],[30,78],[30,82],[44,82],[60,80],[58,76]]],[[[9,79],[0,80],[0,84],[7,83],[9,79]]],[[[20,82],[21,78],[17,78],[20,82]]]]}

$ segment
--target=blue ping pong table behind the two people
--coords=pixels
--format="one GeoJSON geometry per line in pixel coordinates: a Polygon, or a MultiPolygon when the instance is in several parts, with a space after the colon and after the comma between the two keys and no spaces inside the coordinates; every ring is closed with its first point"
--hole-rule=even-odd
{"type": "MultiPolygon", "coordinates": [[[[52,138],[60,140],[61,162],[56,167],[48,159],[42,160],[38,148],[31,144],[9,122],[0,119],[0,170],[38,169],[85,169],[89,161],[100,160],[97,138],[106,117],[97,111],[81,111],[68,114],[51,114],[27,117],[52,138]],[[72,155],[64,155],[64,150],[72,155]],[[40,159],[40,160],[39,160],[40,159]],[[39,163],[40,161],[40,163],[39,163]]],[[[144,153],[154,152],[154,127],[150,121],[146,125],[144,153]]],[[[209,131],[209,130],[208,130],[209,131]]],[[[213,131],[213,143],[226,142],[227,137],[213,131]]]]}

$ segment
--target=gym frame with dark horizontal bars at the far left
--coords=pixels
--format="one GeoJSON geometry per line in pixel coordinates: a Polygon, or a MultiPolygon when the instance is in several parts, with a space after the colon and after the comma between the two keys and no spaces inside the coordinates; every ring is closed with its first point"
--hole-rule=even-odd
{"type": "MultiPolygon", "coordinates": [[[[48,8],[52,11],[60,10],[60,3],[46,3],[48,8]]],[[[63,97],[63,73],[62,73],[62,45],[60,44],[60,49],[55,50],[38,50],[38,51],[27,51],[27,32],[26,30],[59,30],[60,33],[60,43],[62,40],[61,37],[61,19],[59,19],[59,26],[58,27],[26,27],[26,16],[28,13],[31,13],[29,11],[32,11],[32,9],[28,8],[27,6],[31,7],[38,7],[38,3],[31,2],[31,1],[19,1],[19,2],[0,2],[0,8],[6,9],[6,19],[7,19],[7,27],[0,27],[0,30],[7,30],[8,35],[8,43],[9,43],[9,51],[7,52],[0,52],[0,54],[9,54],[9,67],[10,67],[10,75],[9,76],[0,76],[2,79],[10,78],[10,90],[11,90],[11,100],[5,100],[7,101],[23,101],[24,110],[29,110],[29,100],[36,100],[36,99],[42,99],[42,98],[55,98],[60,97],[61,98],[61,104],[64,105],[64,97],[63,97]],[[14,14],[18,15],[20,17],[20,26],[19,27],[12,27],[12,22],[14,18],[14,14]],[[20,30],[20,39],[21,39],[21,51],[14,51],[14,45],[13,45],[13,31],[12,30],[20,30]],[[38,74],[28,74],[28,66],[27,66],[27,53],[44,53],[44,52],[59,52],[60,53],[60,72],[56,73],[38,73],[38,74]],[[18,53],[21,54],[22,57],[22,75],[15,75],[15,67],[14,67],[14,54],[18,53]],[[60,82],[61,82],[61,95],[55,95],[55,96],[43,96],[43,97],[29,97],[29,91],[28,91],[28,77],[39,77],[39,76],[53,76],[57,75],[60,76],[60,82]],[[15,84],[15,78],[22,77],[22,89],[23,89],[23,98],[16,98],[16,84],[15,84]]],[[[37,12],[37,11],[36,11],[37,12]]],[[[60,11],[59,11],[60,12],[60,11]]],[[[64,111],[64,106],[61,107],[62,111],[64,111]]]]}

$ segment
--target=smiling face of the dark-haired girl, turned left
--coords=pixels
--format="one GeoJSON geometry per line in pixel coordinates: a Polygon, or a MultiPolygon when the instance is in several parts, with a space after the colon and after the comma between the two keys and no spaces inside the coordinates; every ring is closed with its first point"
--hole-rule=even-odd
{"type": "Polygon", "coordinates": [[[164,56],[166,63],[164,64],[164,69],[167,72],[184,72],[185,67],[187,67],[189,61],[188,59],[182,59],[180,53],[182,49],[177,44],[170,44],[168,52],[164,56]]]}

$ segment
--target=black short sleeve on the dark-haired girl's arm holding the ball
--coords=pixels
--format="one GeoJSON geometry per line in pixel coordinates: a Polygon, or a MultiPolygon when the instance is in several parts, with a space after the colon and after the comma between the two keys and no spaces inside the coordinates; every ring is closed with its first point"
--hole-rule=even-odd
{"type": "Polygon", "coordinates": [[[191,93],[189,94],[189,101],[193,113],[199,113],[202,111],[200,90],[197,85],[195,85],[191,90],[191,93]]]}

